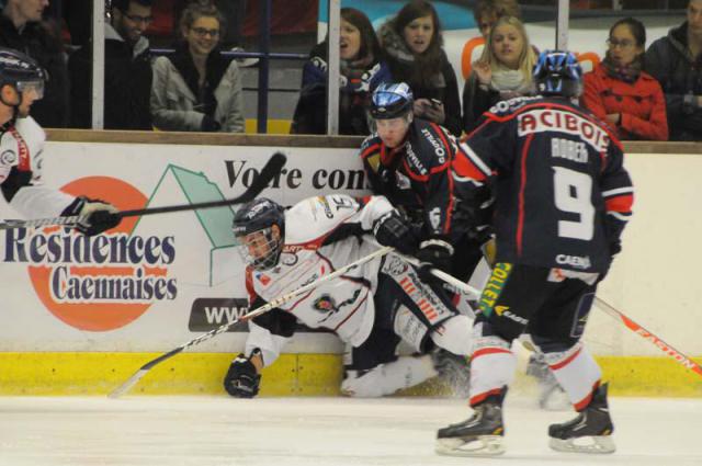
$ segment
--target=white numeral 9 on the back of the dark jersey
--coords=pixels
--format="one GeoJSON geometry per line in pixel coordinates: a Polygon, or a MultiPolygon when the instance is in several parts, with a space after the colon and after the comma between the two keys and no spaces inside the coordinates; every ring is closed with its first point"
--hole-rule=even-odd
{"type": "Polygon", "coordinates": [[[567,168],[553,169],[556,208],[580,216],[579,221],[558,220],[558,236],[591,240],[595,234],[595,207],[590,202],[592,180],[588,174],[567,168]]]}

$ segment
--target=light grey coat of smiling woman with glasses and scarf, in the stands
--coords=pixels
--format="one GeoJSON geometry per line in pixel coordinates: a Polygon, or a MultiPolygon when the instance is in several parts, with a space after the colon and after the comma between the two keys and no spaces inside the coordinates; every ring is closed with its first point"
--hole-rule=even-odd
{"type": "Polygon", "coordinates": [[[162,130],[199,132],[203,121],[214,120],[223,133],[244,133],[241,71],[215,48],[206,64],[205,84],[199,77],[186,45],[176,54],[154,62],[151,115],[154,126],[162,130]]]}

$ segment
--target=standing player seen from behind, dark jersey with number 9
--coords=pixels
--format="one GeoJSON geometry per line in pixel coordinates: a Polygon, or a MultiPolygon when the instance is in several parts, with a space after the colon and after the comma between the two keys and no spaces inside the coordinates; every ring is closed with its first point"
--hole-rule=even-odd
{"type": "Polygon", "coordinates": [[[473,417],[438,432],[439,453],[503,452],[502,401],[516,367],[510,345],[528,325],[578,412],[550,427],[551,447],[615,450],[607,384],[580,338],[597,284],[621,249],[633,186],[620,141],[570,100],[581,75],[573,54],[541,54],[534,82],[543,98],[494,106],[454,161],[464,202],[476,202],[476,187],[492,189],[497,263],[475,319],[473,417]]]}

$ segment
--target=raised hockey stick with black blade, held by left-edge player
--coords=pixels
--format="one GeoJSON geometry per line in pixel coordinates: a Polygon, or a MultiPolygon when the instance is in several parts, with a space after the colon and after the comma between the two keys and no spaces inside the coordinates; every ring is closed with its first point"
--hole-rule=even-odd
{"type": "MultiPolygon", "coordinates": [[[[227,205],[234,204],[244,204],[249,201],[253,201],[256,196],[258,196],[261,191],[263,191],[268,183],[271,182],[281,171],[283,166],[285,164],[286,157],[282,152],[275,152],[271,157],[271,159],[265,163],[265,167],[261,169],[261,172],[253,180],[251,185],[246,190],[244,194],[238,197],[234,197],[230,200],[222,200],[222,201],[211,201],[211,202],[201,202],[195,204],[181,204],[181,205],[170,205],[163,207],[147,207],[147,208],[135,208],[132,211],[122,211],[116,215],[120,218],[124,217],[136,217],[144,215],[155,215],[155,214],[169,214],[172,212],[182,212],[182,211],[196,211],[200,208],[213,208],[213,207],[223,207],[227,205]]],[[[54,217],[54,218],[37,218],[33,220],[4,220],[0,224],[0,230],[8,230],[12,228],[36,228],[36,227],[47,227],[47,226],[66,226],[73,227],[78,224],[79,216],[72,215],[69,217],[54,217]]]]}

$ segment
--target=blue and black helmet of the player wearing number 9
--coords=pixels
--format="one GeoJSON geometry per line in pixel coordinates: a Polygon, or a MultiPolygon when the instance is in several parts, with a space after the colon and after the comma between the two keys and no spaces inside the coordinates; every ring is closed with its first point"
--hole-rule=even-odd
{"type": "Polygon", "coordinates": [[[541,95],[577,98],[582,93],[582,68],[567,50],[544,50],[534,66],[534,84],[541,95]]]}

